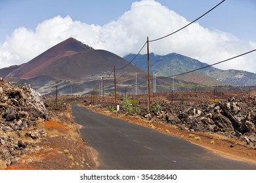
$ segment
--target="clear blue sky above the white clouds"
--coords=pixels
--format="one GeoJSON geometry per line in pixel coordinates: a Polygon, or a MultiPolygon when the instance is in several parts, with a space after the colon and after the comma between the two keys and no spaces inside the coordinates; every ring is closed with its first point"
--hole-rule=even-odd
{"type": "MultiPolygon", "coordinates": [[[[54,16],[71,16],[87,24],[104,25],[117,20],[131,8],[135,0],[0,0],[0,42],[18,27],[35,29],[43,20],[54,16]]],[[[221,1],[159,0],[189,21],[214,7],[221,1]]],[[[199,20],[209,29],[220,29],[242,39],[256,41],[256,1],[226,0],[223,5],[199,20]]]]}

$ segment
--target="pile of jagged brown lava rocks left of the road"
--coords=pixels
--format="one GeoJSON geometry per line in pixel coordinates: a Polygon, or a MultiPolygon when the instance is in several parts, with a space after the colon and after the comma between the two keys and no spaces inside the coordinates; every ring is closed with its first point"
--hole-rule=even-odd
{"type": "Polygon", "coordinates": [[[29,85],[12,86],[0,78],[0,169],[34,150],[32,139],[45,137],[37,129],[39,118],[46,118],[40,94],[29,85]]]}

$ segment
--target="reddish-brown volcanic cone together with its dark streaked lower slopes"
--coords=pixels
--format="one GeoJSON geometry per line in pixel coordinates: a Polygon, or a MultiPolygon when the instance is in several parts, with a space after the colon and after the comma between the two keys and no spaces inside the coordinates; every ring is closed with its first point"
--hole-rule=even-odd
{"type": "Polygon", "coordinates": [[[135,65],[127,65],[125,59],[106,50],[94,50],[90,46],[69,38],[56,44],[49,50],[33,58],[28,63],[0,69],[0,76],[20,84],[31,84],[43,95],[53,93],[58,85],[60,94],[89,93],[91,88],[106,78],[106,88],[113,90],[113,73],[116,65],[119,85],[135,84],[135,73],[138,82],[146,79],[146,73],[135,65]],[[118,69],[127,65],[123,69],[118,69]]]}

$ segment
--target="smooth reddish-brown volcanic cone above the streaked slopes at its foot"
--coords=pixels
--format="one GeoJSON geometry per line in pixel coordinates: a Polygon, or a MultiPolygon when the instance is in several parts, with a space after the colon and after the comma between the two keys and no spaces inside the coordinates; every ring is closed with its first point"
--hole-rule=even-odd
{"type": "MultiPolygon", "coordinates": [[[[60,42],[49,50],[43,52],[28,63],[20,65],[6,75],[13,80],[30,79],[37,76],[51,76],[58,80],[77,80],[91,75],[103,75],[116,68],[123,67],[128,62],[105,50],[94,50],[93,48],[73,39],[60,42]]],[[[135,65],[125,67],[122,72],[144,73],[135,65]]]]}

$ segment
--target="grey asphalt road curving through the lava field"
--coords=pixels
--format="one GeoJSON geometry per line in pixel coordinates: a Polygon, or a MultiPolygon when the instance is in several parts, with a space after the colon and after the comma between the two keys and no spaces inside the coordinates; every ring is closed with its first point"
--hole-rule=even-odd
{"type": "Polygon", "coordinates": [[[98,169],[256,169],[226,159],[188,141],[153,129],[97,114],[72,104],[81,137],[98,151],[98,169]]]}

